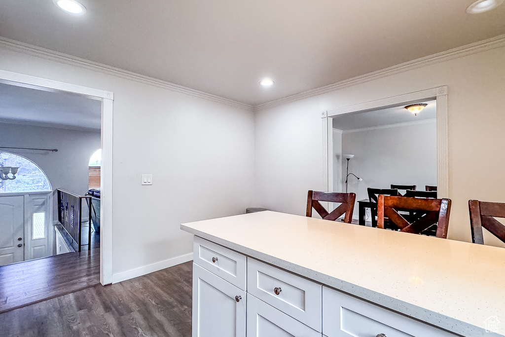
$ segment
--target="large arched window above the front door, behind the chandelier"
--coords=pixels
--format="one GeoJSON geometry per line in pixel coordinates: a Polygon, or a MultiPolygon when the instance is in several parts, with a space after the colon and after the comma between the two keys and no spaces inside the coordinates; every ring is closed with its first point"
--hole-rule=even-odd
{"type": "MultiPolygon", "coordinates": [[[[0,151],[0,167],[19,167],[16,179],[0,180],[0,194],[52,191],[51,183],[31,160],[9,152],[0,151]]],[[[3,175],[3,177],[5,177],[3,175]]],[[[12,174],[8,174],[12,178],[12,174]]]]}

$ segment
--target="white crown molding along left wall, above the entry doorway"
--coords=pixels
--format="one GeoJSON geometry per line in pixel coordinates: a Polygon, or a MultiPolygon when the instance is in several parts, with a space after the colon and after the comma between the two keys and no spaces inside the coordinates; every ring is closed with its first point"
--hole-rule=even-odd
{"type": "Polygon", "coordinates": [[[116,76],[120,78],[124,78],[127,80],[143,83],[143,84],[148,84],[148,85],[153,85],[159,88],[179,92],[179,93],[184,93],[193,97],[205,99],[208,101],[213,101],[217,103],[224,103],[227,105],[235,106],[235,107],[240,107],[240,108],[246,108],[249,110],[253,110],[253,107],[249,104],[225,99],[222,97],[219,97],[217,95],[213,95],[204,91],[199,91],[196,89],[191,89],[182,85],[178,85],[175,83],[170,83],[166,81],[162,81],[153,77],[148,77],[144,75],[140,75],[137,73],[133,73],[130,71],[126,71],[123,69],[111,67],[105,64],[100,64],[97,62],[93,61],[88,61],[85,59],[81,59],[75,56],[70,56],[66,55],[63,53],[55,52],[52,50],[48,50],[45,48],[41,48],[35,45],[31,45],[28,43],[24,42],[19,42],[16,40],[12,40],[6,37],[0,36],[0,47],[3,47],[5,49],[18,52],[18,53],[23,53],[35,57],[39,57],[45,60],[50,60],[50,61],[56,61],[59,63],[64,63],[68,64],[74,67],[79,67],[87,70],[92,70],[96,72],[100,72],[106,75],[111,75],[111,76],[116,76]]]}

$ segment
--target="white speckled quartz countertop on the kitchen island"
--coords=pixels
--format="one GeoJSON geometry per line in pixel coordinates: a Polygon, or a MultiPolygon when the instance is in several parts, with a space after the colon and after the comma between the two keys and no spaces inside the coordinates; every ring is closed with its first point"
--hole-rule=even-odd
{"type": "Polygon", "coordinates": [[[503,248],[271,211],[181,229],[449,331],[505,336],[503,248]]]}

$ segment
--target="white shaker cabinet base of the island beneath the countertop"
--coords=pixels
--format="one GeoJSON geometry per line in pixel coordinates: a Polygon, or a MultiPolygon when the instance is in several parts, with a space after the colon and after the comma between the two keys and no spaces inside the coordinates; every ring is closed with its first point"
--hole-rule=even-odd
{"type": "Polygon", "coordinates": [[[192,336],[246,335],[455,337],[195,236],[192,336]]]}

